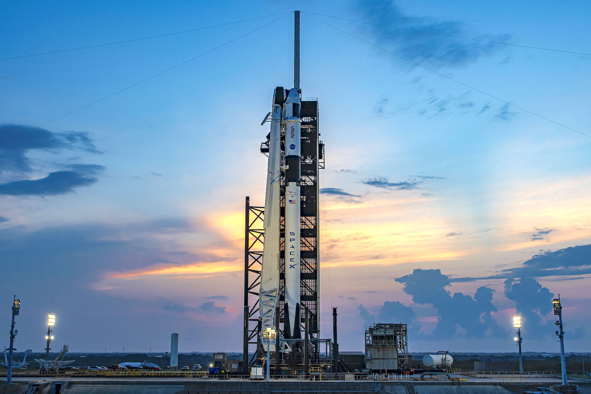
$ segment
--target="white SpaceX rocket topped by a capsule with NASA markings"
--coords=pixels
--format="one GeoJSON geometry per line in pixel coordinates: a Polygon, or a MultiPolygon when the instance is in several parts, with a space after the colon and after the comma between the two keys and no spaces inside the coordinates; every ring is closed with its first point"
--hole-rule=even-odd
{"type": "Polygon", "coordinates": [[[300,337],[300,96],[291,89],[285,120],[285,335],[300,337]]]}

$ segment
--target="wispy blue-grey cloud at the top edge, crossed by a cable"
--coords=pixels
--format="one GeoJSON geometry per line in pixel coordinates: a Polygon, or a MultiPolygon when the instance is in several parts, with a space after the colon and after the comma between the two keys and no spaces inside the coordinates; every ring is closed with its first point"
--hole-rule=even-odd
{"type": "MultiPolygon", "coordinates": [[[[441,21],[430,17],[405,15],[393,1],[358,1],[357,8],[365,20],[380,25],[491,41],[508,41],[510,38],[507,34],[477,35],[459,21],[441,21]]],[[[367,27],[363,29],[368,31],[367,27]]],[[[501,46],[491,43],[380,26],[370,27],[369,32],[373,35],[372,41],[379,46],[425,66],[463,67],[501,49],[501,46]]]]}

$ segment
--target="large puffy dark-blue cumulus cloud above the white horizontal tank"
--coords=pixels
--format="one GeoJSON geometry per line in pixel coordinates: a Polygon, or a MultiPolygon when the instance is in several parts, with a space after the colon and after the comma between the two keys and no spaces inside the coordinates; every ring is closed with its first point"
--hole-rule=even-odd
{"type": "Polygon", "coordinates": [[[497,312],[492,304],[493,289],[483,286],[476,289],[474,296],[459,292],[452,296],[445,289],[451,281],[439,269],[415,269],[412,274],[395,280],[404,284],[404,292],[413,296],[413,302],[430,304],[437,309],[433,337],[500,338],[506,335],[492,316],[493,312],[497,312]]]}

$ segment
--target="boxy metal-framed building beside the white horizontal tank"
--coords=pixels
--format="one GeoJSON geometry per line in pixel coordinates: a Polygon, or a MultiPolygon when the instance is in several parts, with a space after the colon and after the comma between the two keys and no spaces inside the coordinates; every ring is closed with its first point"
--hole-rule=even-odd
{"type": "Polygon", "coordinates": [[[408,369],[406,324],[374,323],[365,328],[365,367],[374,371],[408,369]]]}

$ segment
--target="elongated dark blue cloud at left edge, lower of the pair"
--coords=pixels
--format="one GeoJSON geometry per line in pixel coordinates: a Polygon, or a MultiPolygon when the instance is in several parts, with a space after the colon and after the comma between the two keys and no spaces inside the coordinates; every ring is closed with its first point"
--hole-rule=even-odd
{"type": "Polygon", "coordinates": [[[10,196],[51,196],[75,192],[76,188],[90,186],[98,182],[93,176],[103,166],[90,165],[86,170],[51,172],[44,178],[34,180],[15,180],[1,183],[0,195],[10,196]]]}

